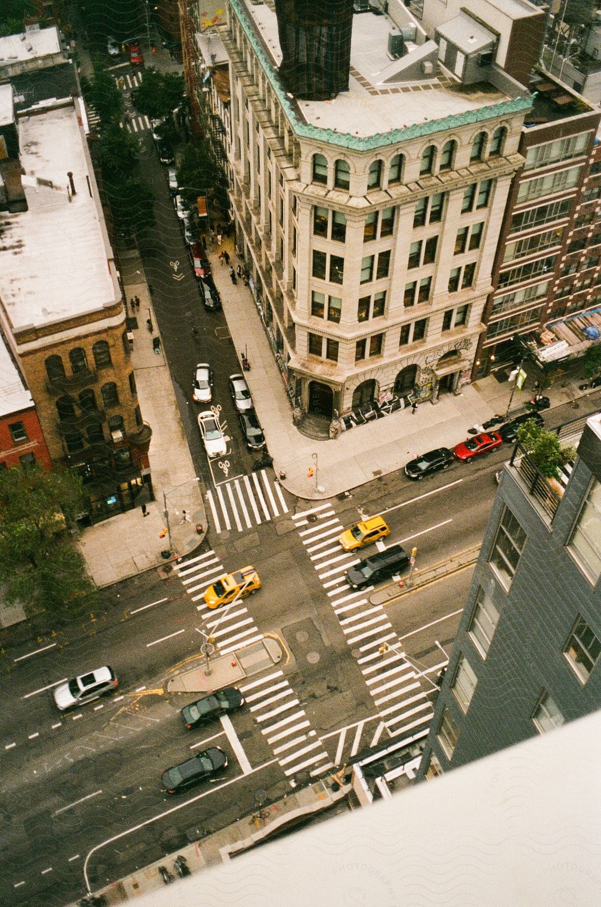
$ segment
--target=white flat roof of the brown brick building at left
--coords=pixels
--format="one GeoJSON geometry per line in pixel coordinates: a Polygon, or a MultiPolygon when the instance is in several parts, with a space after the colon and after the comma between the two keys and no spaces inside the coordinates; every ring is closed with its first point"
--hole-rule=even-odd
{"type": "Polygon", "coordinates": [[[77,112],[70,104],[19,119],[19,141],[29,210],[0,211],[0,298],[15,330],[82,315],[116,298],[77,112]],[[76,190],[71,201],[67,171],[76,190]]]}

